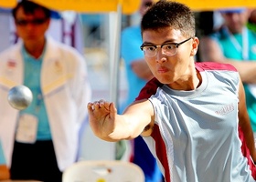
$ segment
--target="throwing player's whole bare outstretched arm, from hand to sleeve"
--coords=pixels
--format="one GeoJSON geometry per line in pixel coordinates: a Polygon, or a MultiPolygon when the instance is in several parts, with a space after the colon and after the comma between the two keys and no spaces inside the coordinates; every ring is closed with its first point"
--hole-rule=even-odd
{"type": "Polygon", "coordinates": [[[151,135],[152,129],[146,126],[153,126],[154,108],[148,100],[134,102],[123,115],[117,114],[113,103],[102,100],[89,103],[88,112],[93,133],[103,140],[115,142],[151,135]]]}

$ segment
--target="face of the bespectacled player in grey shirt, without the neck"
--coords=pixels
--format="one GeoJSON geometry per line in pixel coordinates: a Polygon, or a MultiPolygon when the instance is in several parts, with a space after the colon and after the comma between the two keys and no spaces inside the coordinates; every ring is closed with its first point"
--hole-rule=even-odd
{"type": "MultiPolygon", "coordinates": [[[[161,47],[157,47],[155,56],[144,56],[147,65],[154,76],[163,84],[176,85],[177,82],[187,79],[190,76],[191,63],[197,48],[197,38],[185,37],[180,30],[171,27],[159,30],[145,30],[143,33],[144,45],[165,45],[187,42],[179,45],[172,56],[167,56],[161,47]]],[[[153,50],[152,48],[149,51],[153,50]]],[[[166,48],[168,50],[168,47],[166,48]]],[[[171,86],[175,87],[175,86],[171,86]]]]}

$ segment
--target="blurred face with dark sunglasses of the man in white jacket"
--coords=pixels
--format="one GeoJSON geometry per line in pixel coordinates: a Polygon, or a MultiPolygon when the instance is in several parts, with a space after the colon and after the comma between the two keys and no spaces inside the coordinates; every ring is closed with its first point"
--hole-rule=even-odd
{"type": "Polygon", "coordinates": [[[41,9],[36,9],[34,14],[25,14],[23,7],[16,11],[16,33],[25,44],[35,44],[44,39],[48,30],[49,18],[41,9]]]}

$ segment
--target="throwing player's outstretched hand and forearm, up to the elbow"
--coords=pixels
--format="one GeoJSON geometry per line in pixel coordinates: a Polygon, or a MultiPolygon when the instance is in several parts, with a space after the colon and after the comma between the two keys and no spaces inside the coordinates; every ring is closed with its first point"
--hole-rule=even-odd
{"type": "MultiPolygon", "coordinates": [[[[140,135],[140,122],[132,115],[118,115],[113,103],[110,106],[91,103],[89,108],[89,122],[95,136],[109,142],[123,139],[133,139],[140,135]],[[108,110],[108,112],[105,112],[108,110]]],[[[141,129],[143,130],[143,128],[141,129]]]]}

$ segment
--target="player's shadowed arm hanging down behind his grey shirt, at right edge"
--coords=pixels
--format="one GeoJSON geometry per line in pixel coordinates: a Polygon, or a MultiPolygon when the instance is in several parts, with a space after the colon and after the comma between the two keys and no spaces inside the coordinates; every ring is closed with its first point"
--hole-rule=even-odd
{"type": "Polygon", "coordinates": [[[254,137],[253,137],[253,132],[251,129],[250,118],[247,113],[244,88],[241,84],[241,81],[240,81],[239,97],[240,97],[240,103],[239,103],[240,128],[243,131],[246,145],[250,150],[251,157],[252,157],[253,161],[256,162],[256,149],[255,149],[255,145],[254,145],[254,137]]]}

